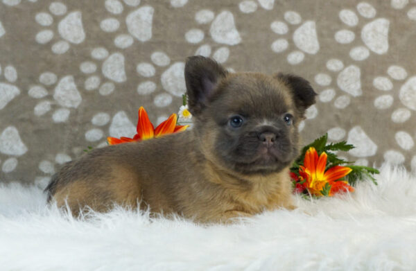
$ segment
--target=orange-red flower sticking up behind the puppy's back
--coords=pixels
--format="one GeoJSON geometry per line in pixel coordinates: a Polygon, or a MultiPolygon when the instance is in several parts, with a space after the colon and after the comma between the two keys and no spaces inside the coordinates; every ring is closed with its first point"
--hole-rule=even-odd
{"type": "Polygon", "coordinates": [[[164,134],[182,132],[189,127],[189,125],[176,125],[176,120],[176,114],[171,114],[171,116],[169,116],[166,121],[157,125],[157,128],[155,129],[149,120],[146,110],[144,110],[143,107],[140,107],[139,120],[137,121],[137,134],[135,134],[135,137],[132,139],[130,139],[130,137],[120,137],[120,139],[107,137],[107,141],[110,145],[115,145],[120,143],[153,139],[154,137],[162,137],[164,134]]]}

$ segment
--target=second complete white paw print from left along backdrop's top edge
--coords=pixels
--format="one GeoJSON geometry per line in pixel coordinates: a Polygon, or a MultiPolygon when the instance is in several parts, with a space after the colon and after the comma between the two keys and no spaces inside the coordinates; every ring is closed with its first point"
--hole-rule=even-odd
{"type": "MultiPolygon", "coordinates": [[[[140,1],[124,0],[124,3],[130,7],[137,7],[140,1]]],[[[128,34],[119,34],[114,38],[114,45],[119,49],[126,49],[134,43],[147,42],[152,38],[153,14],[155,9],[151,6],[142,6],[130,12],[125,18],[120,17],[125,7],[118,0],[105,0],[104,6],[112,15],[103,19],[100,23],[101,30],[107,33],[114,33],[121,26],[120,21],[125,21],[128,34]]]]}

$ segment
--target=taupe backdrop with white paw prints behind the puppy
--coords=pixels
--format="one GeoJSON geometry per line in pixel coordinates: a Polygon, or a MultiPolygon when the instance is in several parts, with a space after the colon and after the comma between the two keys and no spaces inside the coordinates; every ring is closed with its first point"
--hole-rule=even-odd
{"type": "Polygon", "coordinates": [[[358,164],[416,171],[415,44],[415,0],[0,0],[0,180],[44,185],[132,137],[140,106],[177,112],[189,55],[306,78],[304,143],[328,132],[358,164]]]}

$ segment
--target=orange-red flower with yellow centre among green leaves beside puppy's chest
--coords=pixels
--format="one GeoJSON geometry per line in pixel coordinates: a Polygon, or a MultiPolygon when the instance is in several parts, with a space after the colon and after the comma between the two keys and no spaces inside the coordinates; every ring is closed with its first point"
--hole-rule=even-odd
{"type": "Polygon", "coordinates": [[[311,147],[306,151],[304,166],[300,166],[300,180],[304,181],[303,186],[312,195],[333,195],[342,191],[354,191],[347,181],[340,178],[348,175],[352,169],[347,166],[333,166],[325,171],[327,166],[327,154],[318,152],[311,147]]]}

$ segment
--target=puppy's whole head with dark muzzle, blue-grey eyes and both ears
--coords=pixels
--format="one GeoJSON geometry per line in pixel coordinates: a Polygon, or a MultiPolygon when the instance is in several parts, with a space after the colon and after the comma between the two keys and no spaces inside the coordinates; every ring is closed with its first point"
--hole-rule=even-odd
{"type": "Polygon", "coordinates": [[[242,174],[268,174],[299,155],[297,125],[315,103],[303,78],[278,73],[228,73],[193,56],[185,66],[189,110],[205,154],[242,174]]]}

